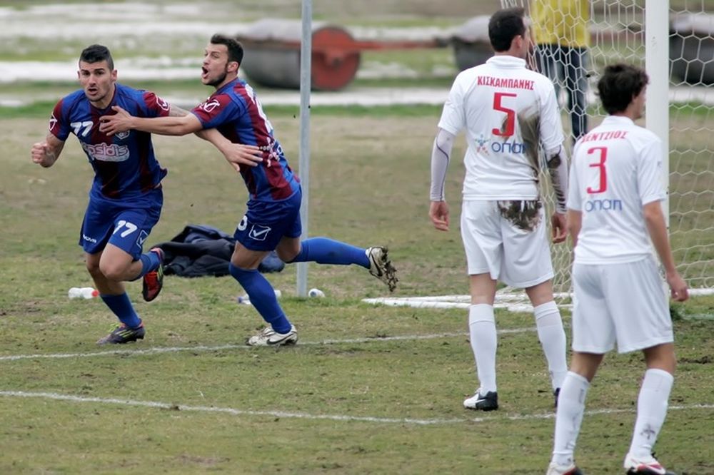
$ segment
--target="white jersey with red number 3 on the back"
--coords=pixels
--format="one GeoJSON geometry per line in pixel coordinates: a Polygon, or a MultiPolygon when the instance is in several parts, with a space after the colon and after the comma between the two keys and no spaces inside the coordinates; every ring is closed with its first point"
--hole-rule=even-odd
{"type": "Polygon", "coordinates": [[[608,116],[575,143],[568,208],[583,213],[575,262],[617,264],[652,254],[643,205],[665,199],[661,145],[623,116],[608,116]]]}

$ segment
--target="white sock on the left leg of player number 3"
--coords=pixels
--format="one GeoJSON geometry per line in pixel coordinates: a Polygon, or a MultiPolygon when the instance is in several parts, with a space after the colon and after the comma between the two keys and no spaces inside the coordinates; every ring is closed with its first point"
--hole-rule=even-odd
{"type": "Polygon", "coordinates": [[[565,375],[563,385],[560,386],[551,460],[558,465],[570,465],[573,462],[573,451],[583,422],[589,387],[590,383],[585,377],[571,371],[565,375]]]}

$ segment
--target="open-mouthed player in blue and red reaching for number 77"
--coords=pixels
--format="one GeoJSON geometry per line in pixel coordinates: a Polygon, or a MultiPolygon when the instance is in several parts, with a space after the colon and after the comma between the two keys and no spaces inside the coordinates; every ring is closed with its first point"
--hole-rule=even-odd
{"type": "MultiPolygon", "coordinates": [[[[236,228],[236,248],[231,257],[231,275],[248,293],[251,303],[268,323],[248,339],[255,346],[294,344],[298,336],[276,300],[270,282],[258,272],[258,264],[276,250],[285,262],[361,265],[388,285],[396,286],[395,269],[385,247],[367,249],[326,237],[300,240],[301,188],[273,135],[273,126],[248,83],[238,79],[243,47],[236,39],[214,35],[203,56],[201,82],[216,92],[183,117],[147,118],[115,108],[114,116],[102,119],[101,131],[109,134],[137,130],[182,136],[206,128],[216,128],[235,144],[256,145],[261,151],[256,161],[229,157],[236,163],[248,188],[248,209],[236,228]]],[[[242,151],[240,148],[236,148],[242,151]]]]}

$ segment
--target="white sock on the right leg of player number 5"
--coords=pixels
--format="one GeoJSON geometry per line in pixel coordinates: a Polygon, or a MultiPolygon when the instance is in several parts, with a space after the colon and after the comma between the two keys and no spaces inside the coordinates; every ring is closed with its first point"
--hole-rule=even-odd
{"type": "Polygon", "coordinates": [[[543,347],[545,359],[548,360],[550,382],[555,390],[563,385],[563,379],[568,372],[568,363],[565,361],[563,320],[560,319],[558,306],[552,300],[535,307],[533,313],[540,346],[543,347]]]}

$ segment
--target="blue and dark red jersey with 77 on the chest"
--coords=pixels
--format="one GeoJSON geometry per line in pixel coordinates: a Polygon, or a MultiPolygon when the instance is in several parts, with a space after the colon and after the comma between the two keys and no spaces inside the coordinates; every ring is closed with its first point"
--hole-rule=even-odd
{"type": "Polygon", "coordinates": [[[74,91],[54,107],[49,131],[61,141],[74,133],[94,168],[91,193],[104,198],[124,200],[137,198],[156,187],[166,176],[154,155],[151,134],[139,131],[106,136],[99,131],[99,118],[114,115],[112,106],[121,106],[132,116],[164,117],[169,115],[166,101],[149,91],[139,91],[115,83],[114,98],[106,109],[89,103],[84,91],[74,91]]]}

